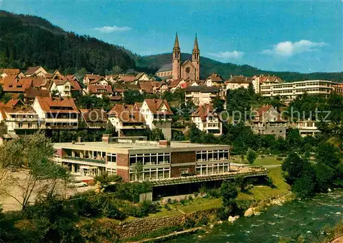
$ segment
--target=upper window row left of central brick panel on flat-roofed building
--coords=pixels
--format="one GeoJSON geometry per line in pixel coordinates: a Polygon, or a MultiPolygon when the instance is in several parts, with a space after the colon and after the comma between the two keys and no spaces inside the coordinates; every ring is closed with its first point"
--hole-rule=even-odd
{"type": "Polygon", "coordinates": [[[170,163],[170,153],[130,154],[130,165],[134,165],[137,162],[141,162],[143,165],[162,165],[170,163]]]}

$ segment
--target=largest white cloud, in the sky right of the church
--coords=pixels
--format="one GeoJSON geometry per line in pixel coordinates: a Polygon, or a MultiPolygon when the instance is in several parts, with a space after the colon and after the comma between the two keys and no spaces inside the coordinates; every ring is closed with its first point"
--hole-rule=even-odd
{"type": "Polygon", "coordinates": [[[283,41],[274,45],[272,49],[263,50],[262,53],[276,56],[293,56],[306,51],[316,51],[318,47],[324,47],[325,45],[327,43],[317,43],[309,40],[283,41]]]}

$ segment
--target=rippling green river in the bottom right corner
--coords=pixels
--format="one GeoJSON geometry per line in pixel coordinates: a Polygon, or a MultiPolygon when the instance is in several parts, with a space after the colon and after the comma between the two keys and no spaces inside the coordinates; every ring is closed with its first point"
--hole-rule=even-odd
{"type": "Polygon", "coordinates": [[[292,242],[303,235],[307,242],[327,237],[323,227],[332,227],[343,218],[343,189],[319,194],[308,200],[295,200],[283,206],[271,206],[252,218],[241,217],[233,224],[220,224],[208,233],[187,235],[169,242],[292,242]],[[285,239],[288,240],[285,240],[285,239]]]}

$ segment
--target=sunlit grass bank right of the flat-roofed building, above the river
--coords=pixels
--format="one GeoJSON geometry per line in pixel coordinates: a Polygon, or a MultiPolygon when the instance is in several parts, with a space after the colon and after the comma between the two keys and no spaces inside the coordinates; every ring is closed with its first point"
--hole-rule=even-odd
{"type": "Polygon", "coordinates": [[[272,196],[286,194],[289,192],[289,185],[285,183],[281,174],[281,167],[269,168],[268,176],[272,178],[275,188],[268,186],[255,186],[248,192],[239,192],[237,200],[264,200],[272,196]]]}

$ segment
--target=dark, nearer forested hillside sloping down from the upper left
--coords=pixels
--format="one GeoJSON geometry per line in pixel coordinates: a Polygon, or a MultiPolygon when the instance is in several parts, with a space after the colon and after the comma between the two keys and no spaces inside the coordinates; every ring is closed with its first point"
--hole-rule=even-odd
{"type": "Polygon", "coordinates": [[[123,49],[65,32],[37,16],[0,10],[0,34],[0,68],[40,65],[73,73],[85,67],[89,72],[102,74],[114,66],[134,69],[134,60],[123,49]]]}

